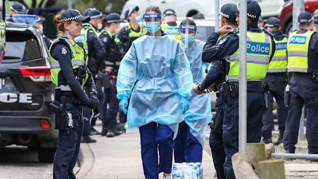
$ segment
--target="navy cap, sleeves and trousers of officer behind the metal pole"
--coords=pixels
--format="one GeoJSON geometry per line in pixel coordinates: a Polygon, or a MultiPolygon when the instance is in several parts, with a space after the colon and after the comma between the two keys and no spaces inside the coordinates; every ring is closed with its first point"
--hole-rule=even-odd
{"type": "MultiPolygon", "coordinates": [[[[255,1],[247,2],[247,12],[249,18],[258,19],[261,15],[261,8],[255,1]]],[[[242,14],[241,14],[242,15],[242,14]]],[[[270,35],[268,32],[263,32],[257,23],[248,23],[247,31],[250,33],[265,33],[270,35]]],[[[238,43],[238,30],[234,30],[228,33],[228,36],[225,37],[222,41],[217,42],[218,34],[214,33],[208,39],[206,46],[203,50],[202,58],[210,58],[212,61],[218,61],[223,57],[228,55],[235,56],[238,54],[237,50],[239,47],[238,43]],[[216,44],[217,42],[217,44],[216,44]]],[[[272,58],[275,51],[275,43],[271,37],[268,39],[269,46],[271,45],[271,54],[268,54],[268,62],[264,63],[265,65],[269,63],[269,59],[272,58]]],[[[250,40],[255,41],[256,39],[250,40]]],[[[235,58],[236,59],[236,58],[235,58]]],[[[229,59],[231,60],[231,59],[229,59]]],[[[237,61],[229,61],[230,63],[235,63],[237,61]]],[[[239,61],[238,61],[239,62],[239,61]]],[[[253,63],[253,62],[251,62],[253,63]]],[[[256,66],[258,65],[255,63],[256,66]]],[[[262,63],[263,65],[263,63],[262,63]]],[[[236,69],[238,71],[238,69],[236,69]]],[[[236,71],[236,73],[237,73],[236,71]]],[[[233,69],[229,70],[233,73],[233,69]]],[[[248,71],[249,72],[249,71],[248,71]]],[[[231,75],[228,75],[231,76],[231,75]]],[[[229,78],[228,78],[229,79],[229,78]]],[[[221,96],[224,102],[224,122],[223,122],[223,142],[225,147],[226,159],[224,164],[225,177],[226,178],[235,178],[234,172],[232,169],[231,157],[234,153],[238,152],[238,81],[230,80],[227,84],[222,85],[220,90],[221,96]],[[228,85],[228,87],[226,87],[228,85]],[[222,95],[223,90],[230,90],[230,87],[235,87],[237,93],[235,97],[226,98],[222,95]]],[[[232,88],[233,89],[233,88],[232,88]]],[[[248,82],[248,91],[247,91],[247,142],[248,143],[257,143],[261,141],[261,131],[262,131],[262,115],[264,108],[264,98],[262,94],[262,83],[260,81],[248,82]]]]}

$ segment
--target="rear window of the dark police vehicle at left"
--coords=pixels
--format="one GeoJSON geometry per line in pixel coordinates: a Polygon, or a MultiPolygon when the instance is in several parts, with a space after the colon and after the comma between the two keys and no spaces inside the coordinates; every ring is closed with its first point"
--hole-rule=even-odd
{"type": "Polygon", "coordinates": [[[6,53],[3,63],[24,62],[42,57],[39,43],[33,34],[7,31],[6,36],[6,53]]]}

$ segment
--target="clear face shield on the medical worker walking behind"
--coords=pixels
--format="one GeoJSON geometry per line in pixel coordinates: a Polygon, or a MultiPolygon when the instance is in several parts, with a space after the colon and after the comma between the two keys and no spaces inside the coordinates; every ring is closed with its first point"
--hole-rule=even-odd
{"type": "Polygon", "coordinates": [[[179,26],[178,30],[181,36],[181,40],[185,44],[185,48],[188,48],[189,44],[191,44],[196,37],[196,26],[182,24],[179,26]]]}

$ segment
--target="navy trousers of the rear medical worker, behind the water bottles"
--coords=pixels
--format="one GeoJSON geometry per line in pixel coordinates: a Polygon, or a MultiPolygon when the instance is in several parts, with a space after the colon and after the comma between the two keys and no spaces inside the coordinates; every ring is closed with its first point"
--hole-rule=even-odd
{"type": "Polygon", "coordinates": [[[173,154],[175,163],[202,162],[203,147],[190,132],[186,122],[179,123],[178,134],[174,139],[173,154]]]}

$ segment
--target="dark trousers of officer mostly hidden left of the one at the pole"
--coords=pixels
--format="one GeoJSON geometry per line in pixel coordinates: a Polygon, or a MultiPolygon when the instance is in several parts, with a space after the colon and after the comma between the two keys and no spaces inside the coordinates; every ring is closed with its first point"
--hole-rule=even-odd
{"type": "MultiPolygon", "coordinates": [[[[220,113],[218,115],[223,115],[222,107],[223,107],[223,100],[221,97],[217,97],[215,102],[215,111],[220,113]]],[[[212,152],[213,164],[214,164],[217,178],[224,179],[225,174],[224,174],[223,165],[225,163],[225,150],[224,150],[224,144],[223,144],[223,137],[222,135],[214,133],[213,129],[211,129],[211,132],[210,132],[209,145],[212,152]]]]}

